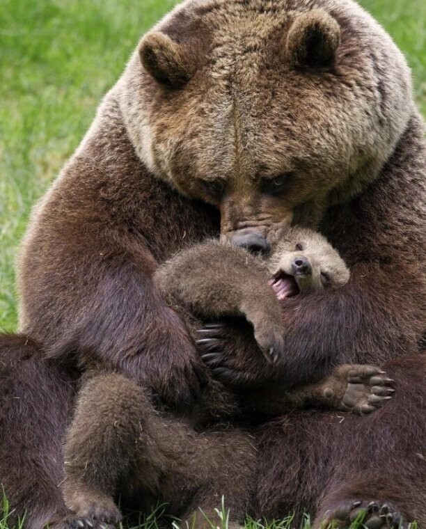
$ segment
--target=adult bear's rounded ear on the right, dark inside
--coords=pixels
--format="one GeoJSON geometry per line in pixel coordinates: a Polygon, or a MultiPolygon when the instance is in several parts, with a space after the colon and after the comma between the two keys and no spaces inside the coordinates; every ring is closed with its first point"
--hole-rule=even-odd
{"type": "Polygon", "coordinates": [[[302,13],[287,34],[287,56],[297,68],[329,68],[340,44],[337,20],[322,9],[302,13]]]}

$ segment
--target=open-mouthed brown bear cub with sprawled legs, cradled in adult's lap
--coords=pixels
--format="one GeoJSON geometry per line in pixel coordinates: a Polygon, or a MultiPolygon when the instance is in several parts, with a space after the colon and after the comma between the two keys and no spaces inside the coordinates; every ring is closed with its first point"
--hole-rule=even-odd
{"type": "MultiPolygon", "coordinates": [[[[290,228],[267,263],[242,248],[211,241],[178,253],[155,272],[161,294],[184,318],[191,335],[200,327],[196,315],[244,315],[268,361],[279,361],[283,353],[278,298],[341,287],[348,279],[338,253],[306,228],[290,228]]],[[[273,416],[309,405],[371,413],[394,391],[386,374],[369,365],[340,365],[316,384],[290,393],[282,388],[281,394],[227,395],[207,377],[189,422],[159,413],[134,381],[102,368],[86,375],[79,392],[61,484],[66,505],[76,513],[74,526],[88,529],[120,521],[117,492],[121,498],[150,493],[152,507],[166,503],[174,509],[170,514],[200,528],[210,523],[199,509],[213,521],[218,498],[226,494],[230,521],[242,522],[256,472],[255,430],[247,421],[243,427],[244,409],[251,420],[254,412],[273,416]],[[239,428],[230,429],[232,414],[239,418],[239,428]]]]}

